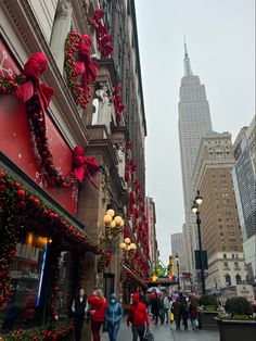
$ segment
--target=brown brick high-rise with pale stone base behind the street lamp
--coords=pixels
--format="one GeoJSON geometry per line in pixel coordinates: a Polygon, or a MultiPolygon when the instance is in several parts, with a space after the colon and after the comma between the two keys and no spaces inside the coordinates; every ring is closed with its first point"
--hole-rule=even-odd
{"type": "Polygon", "coordinates": [[[206,288],[215,290],[246,280],[242,236],[231,171],[234,165],[231,135],[209,131],[201,140],[192,190],[200,190],[203,249],[208,255],[206,288]]]}

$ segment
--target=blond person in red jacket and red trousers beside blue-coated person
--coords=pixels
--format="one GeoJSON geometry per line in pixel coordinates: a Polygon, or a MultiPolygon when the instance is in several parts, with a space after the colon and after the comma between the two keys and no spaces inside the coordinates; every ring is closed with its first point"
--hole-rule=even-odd
{"type": "Polygon", "coordinates": [[[103,291],[101,289],[94,290],[92,295],[88,298],[88,303],[90,304],[89,314],[91,317],[91,332],[93,341],[100,341],[100,330],[105,318],[106,308],[106,300],[103,291]]]}

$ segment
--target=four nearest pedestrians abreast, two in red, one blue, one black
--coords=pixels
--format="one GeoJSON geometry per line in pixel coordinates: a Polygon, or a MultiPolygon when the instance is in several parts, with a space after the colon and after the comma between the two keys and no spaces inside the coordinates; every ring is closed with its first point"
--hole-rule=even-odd
{"type": "MultiPolygon", "coordinates": [[[[150,320],[143,296],[140,293],[132,293],[130,299],[131,302],[127,312],[127,326],[131,326],[132,341],[146,340],[146,334],[149,336],[149,341],[153,340],[150,339],[152,337],[150,333],[150,320]]],[[[101,328],[104,321],[110,341],[117,341],[123,310],[116,294],[111,294],[107,302],[101,289],[94,290],[89,298],[85,294],[85,290],[80,289],[77,298],[73,301],[72,312],[76,341],[81,341],[85,320],[90,321],[93,341],[101,340],[101,328]]]]}

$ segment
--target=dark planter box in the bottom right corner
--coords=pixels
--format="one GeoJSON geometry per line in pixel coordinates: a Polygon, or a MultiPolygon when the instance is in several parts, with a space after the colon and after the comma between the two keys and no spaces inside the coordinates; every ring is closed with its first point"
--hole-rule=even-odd
{"type": "Polygon", "coordinates": [[[216,320],[220,341],[256,340],[256,320],[216,320]]]}

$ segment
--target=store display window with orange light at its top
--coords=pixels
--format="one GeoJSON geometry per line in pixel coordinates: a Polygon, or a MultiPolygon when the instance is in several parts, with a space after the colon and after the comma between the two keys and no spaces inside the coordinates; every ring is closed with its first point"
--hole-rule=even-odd
{"type": "Polygon", "coordinates": [[[12,288],[4,313],[2,329],[28,329],[38,324],[46,257],[51,239],[28,232],[16,245],[12,275],[12,288]]]}

